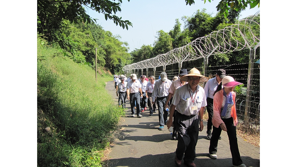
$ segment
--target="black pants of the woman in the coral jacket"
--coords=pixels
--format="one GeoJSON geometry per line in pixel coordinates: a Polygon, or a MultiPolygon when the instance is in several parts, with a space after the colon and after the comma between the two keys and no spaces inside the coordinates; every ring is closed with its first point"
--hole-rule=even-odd
{"type": "MultiPolygon", "coordinates": [[[[232,164],[235,166],[241,165],[242,160],[240,158],[240,153],[238,150],[238,144],[237,144],[237,137],[236,137],[236,126],[234,126],[233,118],[227,118],[222,119],[222,121],[225,123],[227,128],[227,134],[229,138],[229,144],[230,144],[230,151],[232,155],[232,164]]],[[[219,140],[219,137],[221,135],[222,129],[221,126],[218,128],[213,126],[213,133],[210,138],[210,144],[209,144],[209,153],[210,154],[217,154],[217,143],[219,140]]]]}

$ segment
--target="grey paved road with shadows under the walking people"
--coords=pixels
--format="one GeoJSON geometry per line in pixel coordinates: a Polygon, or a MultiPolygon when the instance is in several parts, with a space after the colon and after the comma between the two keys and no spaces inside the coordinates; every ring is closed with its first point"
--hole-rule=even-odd
{"type": "MultiPolygon", "coordinates": [[[[118,97],[115,94],[113,81],[106,84],[105,88],[114,98],[117,105],[118,97]]],[[[106,164],[112,167],[172,167],[174,164],[177,140],[172,140],[165,126],[159,131],[158,113],[149,116],[149,111],[144,111],[142,118],[131,118],[130,103],[126,103],[126,117],[120,122],[122,131],[116,134],[116,140],[111,147],[110,159],[106,164]]],[[[196,145],[196,159],[198,166],[232,167],[232,156],[229,147],[228,135],[222,131],[222,139],[218,142],[217,159],[208,156],[209,140],[206,138],[207,121],[204,121],[204,130],[199,132],[196,145]]],[[[260,166],[260,148],[255,147],[238,138],[239,152],[243,163],[250,167],[260,166]]],[[[186,166],[183,164],[182,167],[186,166]]]]}

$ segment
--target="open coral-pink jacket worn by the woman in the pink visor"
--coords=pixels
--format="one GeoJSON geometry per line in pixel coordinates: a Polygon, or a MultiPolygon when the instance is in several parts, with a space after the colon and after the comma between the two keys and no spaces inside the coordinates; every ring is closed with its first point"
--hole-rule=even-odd
{"type": "MultiPolygon", "coordinates": [[[[233,102],[234,105],[231,107],[231,117],[233,118],[233,123],[234,126],[238,124],[237,120],[237,115],[236,115],[236,108],[235,108],[235,92],[230,92],[232,93],[233,96],[233,102]]],[[[222,103],[223,103],[223,89],[218,91],[214,96],[213,96],[213,126],[218,128],[221,123],[224,123],[221,119],[221,108],[222,108],[222,103]]]]}

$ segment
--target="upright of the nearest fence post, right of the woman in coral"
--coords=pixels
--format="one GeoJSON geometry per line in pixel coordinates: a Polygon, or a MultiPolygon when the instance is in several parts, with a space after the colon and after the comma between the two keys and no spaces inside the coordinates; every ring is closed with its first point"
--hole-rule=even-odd
{"type": "Polygon", "coordinates": [[[253,83],[253,73],[254,73],[254,58],[255,58],[255,49],[250,49],[250,58],[249,58],[249,62],[248,62],[248,83],[247,83],[247,96],[246,96],[246,101],[245,101],[244,121],[247,121],[250,118],[252,83],[253,83]]]}

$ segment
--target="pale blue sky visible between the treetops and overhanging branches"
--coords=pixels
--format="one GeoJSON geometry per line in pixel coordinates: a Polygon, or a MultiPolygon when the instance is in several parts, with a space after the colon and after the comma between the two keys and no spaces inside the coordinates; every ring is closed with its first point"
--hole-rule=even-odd
{"type": "MultiPolygon", "coordinates": [[[[155,41],[156,32],[163,30],[169,32],[173,29],[175,19],[179,19],[182,24],[181,18],[183,16],[192,16],[198,9],[206,9],[207,13],[217,13],[217,4],[219,0],[214,0],[209,3],[206,1],[196,0],[194,5],[186,5],[184,0],[123,0],[121,6],[122,11],[117,12],[118,17],[123,20],[129,20],[133,27],[128,26],[128,30],[123,29],[119,25],[116,26],[113,21],[105,20],[103,14],[96,11],[88,10],[87,13],[97,20],[97,24],[101,25],[105,31],[112,32],[113,35],[119,35],[122,38],[120,41],[126,41],[129,44],[129,52],[135,48],[139,49],[142,45],[152,45],[155,41]]],[[[247,7],[246,11],[241,12],[240,19],[249,15],[254,15],[260,8],[257,6],[253,9],[247,7]]]]}

